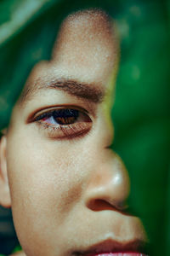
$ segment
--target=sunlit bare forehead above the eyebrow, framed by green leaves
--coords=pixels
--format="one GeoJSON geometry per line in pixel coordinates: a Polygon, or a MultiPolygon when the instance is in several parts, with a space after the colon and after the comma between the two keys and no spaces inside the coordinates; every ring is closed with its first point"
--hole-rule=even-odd
{"type": "Polygon", "coordinates": [[[113,21],[104,11],[71,14],[56,35],[51,60],[41,61],[32,69],[24,92],[47,88],[58,80],[97,84],[99,89],[116,73],[117,51],[113,21]]]}

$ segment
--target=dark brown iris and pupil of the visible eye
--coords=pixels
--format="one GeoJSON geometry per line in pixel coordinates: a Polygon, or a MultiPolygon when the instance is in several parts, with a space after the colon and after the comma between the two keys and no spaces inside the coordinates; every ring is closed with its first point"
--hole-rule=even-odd
{"type": "Polygon", "coordinates": [[[76,109],[59,109],[54,111],[53,116],[59,125],[70,125],[77,120],[78,113],[76,109]]]}

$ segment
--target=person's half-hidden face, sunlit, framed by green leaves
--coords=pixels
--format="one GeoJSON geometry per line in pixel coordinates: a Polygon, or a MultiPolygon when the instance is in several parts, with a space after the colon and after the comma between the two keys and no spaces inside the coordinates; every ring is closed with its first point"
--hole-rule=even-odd
{"type": "Polygon", "coordinates": [[[137,255],[146,241],[126,213],[127,170],[110,147],[117,52],[104,13],[70,15],[14,106],[2,162],[27,256],[137,255]]]}

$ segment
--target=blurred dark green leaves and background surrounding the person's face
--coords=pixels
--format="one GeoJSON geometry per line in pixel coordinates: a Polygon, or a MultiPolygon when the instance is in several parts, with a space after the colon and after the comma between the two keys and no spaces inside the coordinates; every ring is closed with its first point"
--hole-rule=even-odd
{"type": "MultiPolygon", "coordinates": [[[[112,109],[114,150],[131,179],[130,205],[144,222],[150,255],[170,255],[170,1],[1,0],[0,128],[31,67],[49,59],[59,20],[84,7],[106,9],[121,38],[112,109]]],[[[17,244],[11,213],[0,208],[0,253],[17,244]],[[6,243],[6,244],[5,244],[6,243]]]]}

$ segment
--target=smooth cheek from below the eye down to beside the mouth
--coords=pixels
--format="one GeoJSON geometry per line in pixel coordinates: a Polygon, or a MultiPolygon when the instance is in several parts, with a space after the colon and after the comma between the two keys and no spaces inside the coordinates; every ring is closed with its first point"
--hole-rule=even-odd
{"type": "Polygon", "coordinates": [[[62,248],[75,216],[82,216],[83,193],[96,166],[96,142],[92,137],[59,142],[35,134],[25,127],[8,136],[14,226],[28,256],[54,255],[46,251],[47,244],[53,251],[57,238],[62,248]]]}

